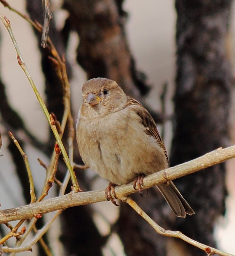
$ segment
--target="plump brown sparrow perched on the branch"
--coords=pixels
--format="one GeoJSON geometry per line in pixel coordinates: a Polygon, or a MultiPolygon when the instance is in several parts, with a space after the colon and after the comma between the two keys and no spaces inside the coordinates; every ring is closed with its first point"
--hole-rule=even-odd
{"type": "MultiPolygon", "coordinates": [[[[135,180],[134,188],[141,192],[145,175],[168,167],[167,151],[151,115],[115,81],[91,79],[84,83],[82,97],[76,132],[80,155],[110,181],[106,198],[116,204],[113,185],[135,180]]],[[[157,187],[176,216],[194,214],[172,181],[157,187]]]]}

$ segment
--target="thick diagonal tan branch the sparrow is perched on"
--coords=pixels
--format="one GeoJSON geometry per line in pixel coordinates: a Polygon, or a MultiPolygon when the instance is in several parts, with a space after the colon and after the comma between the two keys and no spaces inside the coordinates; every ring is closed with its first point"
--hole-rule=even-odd
{"type": "MultiPolygon", "coordinates": [[[[147,189],[157,185],[158,183],[167,182],[169,180],[174,180],[179,177],[192,174],[194,172],[222,163],[234,157],[235,146],[224,149],[218,148],[199,158],[146,176],[143,180],[144,186],[147,189]]],[[[115,187],[115,192],[118,198],[123,198],[127,195],[135,193],[136,190],[134,190],[133,188],[133,182],[130,182],[115,187]]],[[[104,190],[95,190],[79,193],[71,191],[69,194],[66,194],[64,196],[50,198],[42,202],[37,202],[26,206],[20,206],[18,208],[2,210],[0,211],[0,224],[9,221],[32,218],[36,214],[45,214],[61,209],[66,209],[72,206],[80,206],[102,201],[106,201],[104,190]]]]}

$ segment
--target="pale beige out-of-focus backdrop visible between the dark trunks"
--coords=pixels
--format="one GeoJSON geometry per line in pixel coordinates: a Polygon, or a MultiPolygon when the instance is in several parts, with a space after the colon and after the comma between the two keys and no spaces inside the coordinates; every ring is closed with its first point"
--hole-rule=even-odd
{"type": "MultiPolygon", "coordinates": [[[[9,0],[12,6],[24,11],[25,2],[23,0],[9,0]]],[[[59,0],[52,1],[52,8],[57,10],[60,5],[59,0]]],[[[155,110],[160,110],[159,102],[156,98],[162,90],[162,85],[165,81],[168,82],[168,95],[167,95],[167,113],[172,113],[171,97],[173,95],[174,76],[175,76],[175,20],[176,13],[174,10],[173,0],[126,0],[124,8],[129,12],[129,19],[127,21],[127,36],[130,43],[130,48],[136,59],[137,67],[144,71],[153,85],[150,97],[147,102],[151,104],[155,110]],[[147,4],[146,4],[147,3],[147,4]],[[151,24],[151,26],[149,26],[151,24]],[[154,24],[154,25],[153,25],[154,24]]],[[[10,19],[14,35],[19,44],[20,50],[24,60],[29,68],[29,71],[34,79],[37,88],[43,95],[43,79],[40,66],[40,56],[37,50],[37,43],[32,36],[32,28],[26,21],[19,18],[16,14],[8,11],[0,5],[0,12],[10,19]]],[[[66,13],[56,12],[55,18],[65,17],[66,13]]],[[[232,22],[234,23],[234,21],[232,22]]],[[[61,22],[57,23],[61,26],[61,22]]],[[[34,134],[37,134],[41,139],[45,139],[48,128],[46,118],[44,117],[40,105],[38,104],[33,90],[31,89],[25,75],[19,67],[16,59],[16,53],[11,43],[10,37],[6,29],[0,22],[1,34],[1,47],[0,47],[0,65],[1,65],[1,78],[6,85],[6,91],[12,106],[26,120],[27,127],[32,129],[34,134]]],[[[234,41],[234,26],[231,28],[231,39],[234,41]]],[[[74,68],[74,77],[71,81],[72,101],[75,112],[80,106],[80,87],[86,80],[86,76],[81,68],[75,62],[74,50],[78,38],[75,35],[71,36],[70,49],[68,51],[68,58],[72,62],[74,68]],[[79,85],[79,86],[78,86],[79,85]]],[[[231,44],[232,51],[231,57],[234,57],[234,44],[231,44]]],[[[233,72],[234,73],[234,72],[233,72]]],[[[232,111],[234,113],[234,110],[232,111]]],[[[231,120],[234,120],[235,115],[231,115],[231,120]]],[[[166,145],[169,151],[171,141],[171,125],[167,123],[166,145]]],[[[1,124],[0,129],[5,135],[6,131],[1,124]]],[[[1,209],[6,209],[24,204],[23,197],[19,191],[20,186],[14,174],[14,168],[11,164],[11,158],[6,151],[7,140],[3,136],[3,147],[1,149],[2,157],[0,157],[0,202],[1,209]]],[[[37,158],[40,157],[45,162],[48,159],[34,148],[26,148],[30,165],[34,175],[34,181],[37,188],[42,187],[44,182],[44,170],[37,163],[37,158]]],[[[235,189],[234,189],[234,161],[228,162],[228,189],[230,195],[227,199],[227,213],[225,218],[221,218],[216,228],[215,236],[218,241],[220,249],[227,252],[235,253],[234,244],[234,230],[235,230],[235,189]]],[[[213,174],[211,174],[213,175],[213,174]]],[[[99,185],[97,185],[99,186],[99,185]]],[[[104,186],[103,186],[104,187],[104,186]]],[[[101,188],[101,187],[99,187],[101,188]]],[[[53,193],[51,193],[53,195],[53,193]]],[[[104,203],[102,207],[96,204],[97,209],[109,209],[117,213],[117,209],[109,203],[104,203]],[[103,207],[104,206],[104,207],[103,207]],[[114,210],[115,209],[115,210],[114,210]]],[[[101,204],[100,204],[101,205],[101,204]]],[[[117,214],[116,214],[117,216],[117,214]]],[[[98,218],[98,217],[97,217],[98,218]]],[[[52,230],[59,234],[59,225],[54,224],[52,230]]],[[[108,232],[107,228],[101,228],[101,232],[108,232]]],[[[53,232],[53,231],[50,231],[53,232]]],[[[110,245],[116,238],[110,241],[110,245]]],[[[109,255],[108,249],[104,249],[106,255],[109,255]]],[[[58,249],[57,255],[63,255],[58,249]]],[[[122,251],[117,249],[118,255],[122,255],[122,251]]],[[[33,255],[31,252],[24,253],[24,255],[33,255]]]]}

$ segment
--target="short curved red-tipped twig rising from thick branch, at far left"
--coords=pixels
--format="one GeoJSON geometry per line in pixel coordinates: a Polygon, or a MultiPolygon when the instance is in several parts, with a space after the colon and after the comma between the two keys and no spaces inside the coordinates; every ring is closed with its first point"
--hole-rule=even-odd
{"type": "Polygon", "coordinates": [[[33,176],[31,173],[31,169],[29,166],[29,162],[28,162],[28,157],[25,154],[25,152],[23,151],[23,149],[20,147],[18,141],[16,140],[16,138],[13,136],[13,134],[11,132],[8,132],[9,137],[13,140],[14,144],[16,145],[16,147],[18,148],[24,162],[25,162],[25,166],[27,169],[27,173],[28,173],[28,180],[29,180],[29,186],[30,186],[30,196],[31,196],[31,201],[30,203],[35,203],[36,201],[36,197],[35,197],[35,192],[34,192],[34,180],[33,180],[33,176]]]}

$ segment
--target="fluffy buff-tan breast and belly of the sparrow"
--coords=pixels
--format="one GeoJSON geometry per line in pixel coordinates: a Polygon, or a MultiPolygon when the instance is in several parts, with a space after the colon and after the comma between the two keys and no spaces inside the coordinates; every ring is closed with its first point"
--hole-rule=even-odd
{"type": "Polygon", "coordinates": [[[135,113],[112,113],[99,120],[80,119],[77,140],[83,161],[115,184],[130,182],[138,174],[153,173],[165,164],[160,163],[165,161],[163,151],[144,132],[135,113]]]}

